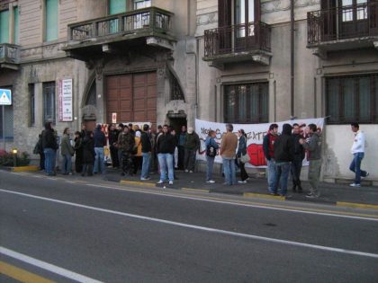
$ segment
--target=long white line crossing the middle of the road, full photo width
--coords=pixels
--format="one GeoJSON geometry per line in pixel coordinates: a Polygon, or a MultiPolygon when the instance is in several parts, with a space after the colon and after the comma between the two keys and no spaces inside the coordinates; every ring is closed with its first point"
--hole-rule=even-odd
{"type": "Polygon", "coordinates": [[[171,225],[171,226],[180,226],[180,227],[191,228],[191,229],[201,230],[201,231],[206,231],[206,232],[211,232],[211,233],[228,234],[228,235],[232,235],[232,236],[254,239],[254,240],[259,240],[259,241],[281,243],[281,244],[311,248],[311,249],[315,249],[315,250],[328,251],[328,252],[341,252],[341,253],[360,255],[360,256],[378,259],[378,254],[376,254],[376,253],[358,252],[358,251],[353,251],[353,250],[339,249],[339,248],[333,248],[333,247],[322,246],[322,245],[311,244],[311,243],[300,243],[300,242],[286,241],[286,240],[281,240],[281,239],[258,236],[258,235],[254,235],[254,234],[242,234],[242,233],[236,233],[236,232],[220,230],[220,229],[215,229],[215,228],[209,228],[209,227],[204,227],[204,226],[189,225],[189,224],[184,224],[184,223],[180,223],[180,222],[164,220],[164,219],[159,219],[159,218],[143,217],[143,216],[139,216],[139,215],[124,213],[124,212],[121,212],[121,211],[114,211],[114,210],[110,210],[110,209],[94,208],[94,207],[85,206],[85,205],[81,205],[81,204],[77,204],[77,203],[73,203],[73,202],[68,202],[68,201],[63,201],[63,200],[58,200],[58,199],[48,199],[48,198],[38,197],[38,196],[23,193],[23,192],[17,192],[17,191],[11,191],[11,190],[1,190],[1,189],[0,189],[0,191],[3,191],[5,193],[14,194],[14,195],[20,195],[20,196],[31,198],[31,199],[42,199],[42,200],[47,200],[47,201],[51,201],[51,202],[55,202],[55,203],[59,203],[59,204],[64,204],[64,205],[68,205],[68,206],[72,206],[72,207],[76,207],[76,208],[85,208],[85,209],[90,209],[90,210],[94,210],[94,211],[100,211],[100,212],[105,212],[105,213],[109,213],[109,214],[113,214],[113,215],[118,215],[118,216],[122,216],[122,217],[130,217],[130,218],[136,218],[136,219],[141,219],[141,220],[147,220],[147,221],[151,221],[151,222],[163,223],[163,224],[171,225]]]}

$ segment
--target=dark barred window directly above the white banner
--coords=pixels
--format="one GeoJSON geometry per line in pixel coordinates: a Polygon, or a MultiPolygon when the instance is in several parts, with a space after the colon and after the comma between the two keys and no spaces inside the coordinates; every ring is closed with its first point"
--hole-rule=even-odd
{"type": "Polygon", "coordinates": [[[268,83],[224,86],[226,123],[268,122],[268,83]]]}

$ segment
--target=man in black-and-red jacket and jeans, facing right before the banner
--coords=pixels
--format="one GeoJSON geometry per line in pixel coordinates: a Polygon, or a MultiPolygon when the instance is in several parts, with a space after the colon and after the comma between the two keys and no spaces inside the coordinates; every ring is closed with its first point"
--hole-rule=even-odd
{"type": "Polygon", "coordinates": [[[278,125],[271,124],[263,139],[263,150],[266,156],[267,182],[270,193],[275,193],[275,141],[278,138],[278,125]]]}

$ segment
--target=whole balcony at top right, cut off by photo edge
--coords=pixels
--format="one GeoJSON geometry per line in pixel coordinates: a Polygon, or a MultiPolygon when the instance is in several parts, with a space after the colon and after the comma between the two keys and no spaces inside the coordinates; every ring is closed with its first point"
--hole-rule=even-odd
{"type": "Polygon", "coordinates": [[[308,48],[325,55],[332,50],[374,47],[378,43],[378,3],[310,12],[307,29],[308,48]]]}

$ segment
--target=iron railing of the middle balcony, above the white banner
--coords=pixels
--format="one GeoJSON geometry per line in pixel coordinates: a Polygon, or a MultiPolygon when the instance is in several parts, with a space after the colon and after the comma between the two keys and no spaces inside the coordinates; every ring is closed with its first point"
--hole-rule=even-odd
{"type": "Polygon", "coordinates": [[[204,57],[212,58],[253,50],[270,52],[270,26],[247,22],[204,31],[204,57]]]}

